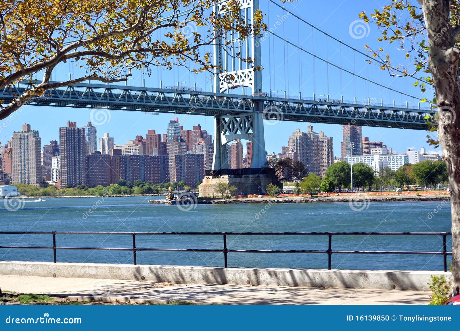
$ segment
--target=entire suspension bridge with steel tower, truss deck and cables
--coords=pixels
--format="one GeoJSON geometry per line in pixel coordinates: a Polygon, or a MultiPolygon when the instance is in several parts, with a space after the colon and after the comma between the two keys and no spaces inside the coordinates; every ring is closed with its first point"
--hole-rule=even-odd
{"type": "MultiPolygon", "coordinates": [[[[293,15],[299,21],[325,34],[328,38],[339,42],[340,47],[347,47],[362,56],[369,57],[368,54],[316,28],[278,3],[268,1],[282,8],[283,12],[293,15]]],[[[259,9],[259,0],[240,0],[240,6],[242,16],[246,18],[247,23],[251,23],[254,12],[259,9]]],[[[224,7],[218,4],[215,11],[218,15],[222,14],[224,7]]],[[[245,40],[236,37],[238,36],[228,35],[228,38],[218,40],[218,43],[214,45],[213,61],[214,65],[220,69],[215,72],[210,91],[202,91],[197,88],[196,84],[194,87],[184,88],[179,82],[175,86],[163,86],[160,82],[158,88],[146,87],[144,80],[141,87],[88,82],[47,90],[44,95],[29,101],[28,105],[87,109],[100,107],[132,112],[213,116],[215,118],[213,172],[218,173],[229,168],[225,145],[230,141],[241,139],[253,142],[251,167],[254,174],[260,174],[258,169],[264,168],[266,164],[264,138],[264,121],[266,120],[426,130],[425,117],[434,114],[434,110],[429,107],[420,107],[420,103],[417,106],[409,106],[407,102],[405,106],[399,106],[395,101],[392,104],[384,104],[383,100],[376,102],[371,99],[358,102],[356,97],[351,101],[344,100],[343,96],[339,99],[332,99],[329,97],[329,91],[328,94],[321,97],[315,94],[305,97],[301,93],[296,96],[287,95],[287,92],[277,95],[278,91],[264,90],[262,74],[265,71],[254,71],[253,67],[261,66],[262,63],[261,42],[264,42],[265,39],[269,39],[270,42],[270,38],[276,38],[297,48],[299,52],[312,56],[313,61],[316,59],[326,63],[327,69],[329,66],[335,67],[341,72],[352,75],[354,79],[363,79],[368,84],[374,84],[379,88],[417,98],[345,69],[328,58],[318,56],[301,47],[299,43],[296,45],[292,40],[280,36],[274,29],[269,28],[264,35],[248,37],[245,40]],[[227,47],[230,52],[224,51],[224,47],[227,47]],[[240,58],[250,56],[254,59],[253,67],[241,61],[239,57],[229,55],[237,52],[241,53],[240,58]],[[229,81],[226,78],[228,75],[232,75],[234,79],[229,81]],[[234,92],[236,87],[243,87],[242,94],[234,92]],[[250,93],[244,93],[245,89],[250,93]]],[[[302,61],[299,62],[299,65],[302,66],[302,61]]],[[[269,68],[269,75],[270,70],[269,68]]],[[[40,84],[40,81],[13,84],[0,91],[0,99],[9,102],[33,88],[35,84],[40,84]]]]}

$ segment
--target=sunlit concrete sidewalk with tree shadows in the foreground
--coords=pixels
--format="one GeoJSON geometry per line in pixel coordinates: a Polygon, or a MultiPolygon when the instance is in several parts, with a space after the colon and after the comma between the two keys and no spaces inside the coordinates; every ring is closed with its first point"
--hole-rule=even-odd
{"type": "Polygon", "coordinates": [[[427,304],[429,291],[251,285],[175,285],[151,281],[0,275],[3,291],[73,301],[196,304],[427,304]]]}

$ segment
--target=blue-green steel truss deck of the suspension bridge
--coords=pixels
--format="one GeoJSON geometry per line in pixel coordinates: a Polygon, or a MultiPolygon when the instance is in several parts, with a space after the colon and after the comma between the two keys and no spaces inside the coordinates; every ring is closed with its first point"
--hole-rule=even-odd
{"type": "MultiPolygon", "coordinates": [[[[27,82],[11,85],[0,91],[0,99],[10,102],[33,86],[34,84],[27,82]]],[[[266,119],[399,129],[426,130],[428,127],[425,117],[435,112],[430,108],[314,98],[296,99],[269,96],[265,93],[236,95],[88,83],[47,90],[45,95],[34,98],[28,105],[216,116],[254,112],[254,104],[257,102],[264,103],[266,119]]]]}

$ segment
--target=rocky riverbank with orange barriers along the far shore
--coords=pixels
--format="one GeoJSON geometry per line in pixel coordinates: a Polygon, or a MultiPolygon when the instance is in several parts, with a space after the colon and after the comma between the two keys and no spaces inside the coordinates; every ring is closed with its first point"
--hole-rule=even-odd
{"type": "MultiPolygon", "coordinates": [[[[400,202],[400,201],[450,201],[450,196],[445,195],[404,195],[404,196],[369,196],[366,194],[355,194],[349,196],[285,196],[260,198],[198,198],[198,204],[236,204],[236,203],[312,203],[312,202],[400,202]]],[[[167,204],[166,200],[149,200],[153,204],[167,204]]]]}

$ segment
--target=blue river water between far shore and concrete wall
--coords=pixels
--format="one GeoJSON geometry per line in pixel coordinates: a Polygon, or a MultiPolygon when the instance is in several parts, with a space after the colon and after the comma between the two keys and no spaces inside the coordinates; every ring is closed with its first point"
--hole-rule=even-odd
{"type": "MultiPolygon", "coordinates": [[[[44,198],[9,211],[0,200],[0,231],[109,232],[449,232],[450,204],[347,202],[197,205],[148,204],[158,197],[44,198]],[[362,210],[357,210],[361,209],[362,210]],[[261,210],[264,212],[261,212],[261,210]]],[[[32,200],[32,199],[26,199],[32,200]]],[[[222,236],[137,236],[137,247],[221,249],[222,236]]],[[[450,251],[451,239],[448,239],[450,251]]],[[[442,251],[440,236],[333,236],[334,250],[442,251]]],[[[327,236],[229,236],[229,249],[327,250],[327,236]]],[[[0,246],[52,246],[51,235],[0,234],[0,246]]],[[[58,247],[132,247],[131,236],[57,235],[58,247]]],[[[0,260],[52,261],[48,249],[1,249],[0,260]]],[[[58,262],[132,264],[132,252],[58,250],[58,262]]],[[[220,252],[137,252],[138,264],[223,266],[220,252]]],[[[229,266],[327,268],[327,254],[229,253],[229,266]]],[[[333,269],[441,270],[442,256],[333,254],[333,269]]],[[[1,273],[1,271],[0,271],[1,273]]]]}

